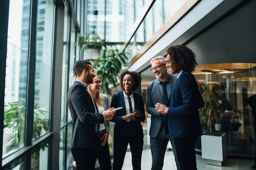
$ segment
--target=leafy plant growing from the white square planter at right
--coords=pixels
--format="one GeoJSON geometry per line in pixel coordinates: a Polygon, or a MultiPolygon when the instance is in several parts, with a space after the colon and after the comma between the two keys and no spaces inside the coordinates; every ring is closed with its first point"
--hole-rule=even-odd
{"type": "Polygon", "coordinates": [[[219,109],[218,95],[220,94],[219,82],[207,82],[201,85],[201,94],[204,99],[204,107],[199,109],[201,124],[206,124],[212,132],[212,124],[215,123],[216,130],[220,130],[221,112],[219,109]]]}

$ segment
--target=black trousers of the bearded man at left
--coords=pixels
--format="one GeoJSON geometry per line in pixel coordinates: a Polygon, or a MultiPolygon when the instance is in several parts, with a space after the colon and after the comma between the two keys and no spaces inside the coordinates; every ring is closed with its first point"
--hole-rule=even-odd
{"type": "Polygon", "coordinates": [[[76,161],[76,170],[95,170],[99,145],[100,138],[95,136],[90,148],[71,148],[74,161],[76,161]]]}

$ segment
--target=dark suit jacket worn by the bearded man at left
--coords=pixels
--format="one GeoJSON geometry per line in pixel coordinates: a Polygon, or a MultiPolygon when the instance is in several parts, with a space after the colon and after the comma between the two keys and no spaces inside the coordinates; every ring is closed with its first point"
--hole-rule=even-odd
{"type": "Polygon", "coordinates": [[[104,115],[96,114],[89,92],[80,82],[75,81],[67,92],[67,106],[73,119],[72,148],[92,146],[95,125],[104,123],[104,115]]]}

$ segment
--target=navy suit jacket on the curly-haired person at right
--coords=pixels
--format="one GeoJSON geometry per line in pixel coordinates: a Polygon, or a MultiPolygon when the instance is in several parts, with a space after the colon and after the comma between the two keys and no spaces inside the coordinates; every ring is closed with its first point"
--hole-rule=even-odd
{"type": "Polygon", "coordinates": [[[198,108],[204,100],[198,90],[195,77],[181,73],[171,91],[168,108],[168,130],[171,137],[198,137],[202,135],[198,108]]]}

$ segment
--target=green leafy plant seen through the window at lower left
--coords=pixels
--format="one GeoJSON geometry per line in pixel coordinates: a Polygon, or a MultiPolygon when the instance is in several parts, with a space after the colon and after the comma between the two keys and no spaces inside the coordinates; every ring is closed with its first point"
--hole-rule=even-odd
{"type": "MultiPolygon", "coordinates": [[[[19,148],[20,144],[24,142],[25,132],[25,106],[26,103],[22,99],[18,102],[9,102],[4,105],[4,129],[9,128],[11,134],[7,137],[7,141],[11,141],[9,146],[10,150],[19,148]]],[[[38,139],[42,134],[42,131],[48,131],[49,119],[47,119],[47,112],[39,108],[38,104],[34,104],[34,127],[33,127],[33,138],[38,139]]],[[[41,149],[44,150],[48,144],[42,143],[41,149]],[[42,146],[43,144],[43,146],[42,146]]],[[[39,158],[39,151],[32,155],[34,158],[39,158]]]]}

